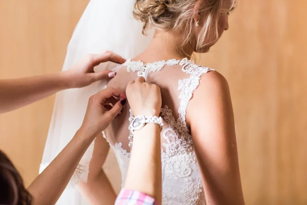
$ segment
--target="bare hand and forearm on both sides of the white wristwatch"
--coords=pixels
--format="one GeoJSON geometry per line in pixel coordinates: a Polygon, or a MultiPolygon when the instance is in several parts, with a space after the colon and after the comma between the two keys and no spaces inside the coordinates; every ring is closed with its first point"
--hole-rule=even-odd
{"type": "MultiPolygon", "coordinates": [[[[157,85],[145,83],[143,77],[138,77],[136,81],[128,84],[126,95],[131,111],[136,117],[139,115],[159,116],[162,99],[160,88],[157,85]]],[[[160,127],[149,123],[141,130],[134,132],[133,148],[124,188],[141,191],[155,198],[157,204],[161,204],[161,170],[160,127]]]]}

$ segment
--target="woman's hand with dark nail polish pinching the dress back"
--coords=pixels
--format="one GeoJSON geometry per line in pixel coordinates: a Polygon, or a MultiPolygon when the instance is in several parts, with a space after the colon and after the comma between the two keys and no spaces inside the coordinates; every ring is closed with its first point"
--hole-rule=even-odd
{"type": "Polygon", "coordinates": [[[91,136],[96,136],[105,130],[111,121],[120,114],[125,104],[125,93],[111,87],[93,95],[87,105],[80,130],[91,136]]]}

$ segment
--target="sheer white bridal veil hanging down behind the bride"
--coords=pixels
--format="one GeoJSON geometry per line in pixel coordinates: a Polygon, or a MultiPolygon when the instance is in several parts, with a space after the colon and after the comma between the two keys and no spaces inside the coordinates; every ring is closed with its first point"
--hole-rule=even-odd
{"type": "MultiPolygon", "coordinates": [[[[142,24],[133,18],[134,3],[135,0],[91,0],[75,28],[62,70],[68,70],[87,53],[109,50],[125,58],[140,54],[149,44],[152,33],[147,36],[142,35],[142,24]]],[[[114,67],[114,64],[104,63],[97,66],[95,71],[110,70],[114,67]]],[[[56,95],[40,172],[49,165],[80,128],[89,97],[102,90],[104,83],[100,81],[85,88],[61,91],[56,95]]],[[[79,163],[80,169],[84,171],[75,174],[70,185],[75,185],[79,180],[86,181],[93,148],[94,142],[79,163]]],[[[107,160],[112,161],[115,158],[111,156],[107,160]]],[[[105,168],[106,173],[116,169],[113,168],[116,163],[106,164],[108,165],[105,168]]],[[[116,187],[118,187],[118,178],[121,177],[118,175],[113,176],[113,179],[111,177],[113,184],[117,183],[116,187]]],[[[68,186],[57,204],[87,203],[75,186],[68,186]]]]}

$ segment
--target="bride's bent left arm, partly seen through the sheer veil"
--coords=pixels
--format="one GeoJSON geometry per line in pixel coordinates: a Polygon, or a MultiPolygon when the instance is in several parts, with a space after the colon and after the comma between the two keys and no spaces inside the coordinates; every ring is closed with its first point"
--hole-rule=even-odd
{"type": "Polygon", "coordinates": [[[109,145],[103,138],[102,134],[99,134],[95,139],[93,157],[90,162],[89,176],[87,182],[80,182],[79,188],[84,197],[91,204],[114,204],[116,194],[102,170],[102,165],[108,154],[109,145]]]}

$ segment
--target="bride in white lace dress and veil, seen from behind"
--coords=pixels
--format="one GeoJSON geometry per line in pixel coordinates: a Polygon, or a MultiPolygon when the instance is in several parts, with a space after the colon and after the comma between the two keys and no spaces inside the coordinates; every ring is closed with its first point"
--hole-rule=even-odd
{"type": "MultiPolygon", "coordinates": [[[[116,18],[116,15],[123,16],[122,12],[129,13],[129,10],[119,9],[131,8],[126,1],[116,4],[116,1],[92,0],[90,5],[95,2],[104,2],[103,8],[97,5],[93,8],[100,9],[97,13],[105,10],[110,14],[115,9],[113,11],[116,12],[109,16],[110,20],[113,16],[116,18]]],[[[142,22],[141,29],[133,19],[125,18],[127,22],[118,22],[122,23],[119,24],[120,28],[108,31],[112,33],[109,39],[114,37],[123,43],[108,42],[119,45],[113,51],[130,48],[129,52],[118,53],[133,59],[127,59],[125,64],[116,67],[115,78],[107,82],[106,86],[124,91],[129,81],[144,76],[148,82],[161,88],[163,106],[160,116],[164,119],[161,132],[162,204],[244,204],[227,81],[213,69],[196,65],[190,60],[192,52],[208,52],[228,29],[228,16],[234,1],[137,0],[133,4],[134,17],[142,22]],[[156,29],[152,39],[150,28],[156,29]],[[126,30],[122,32],[121,29],[126,30]],[[121,32],[121,36],[117,32],[121,32]],[[141,32],[149,34],[145,37],[141,36],[141,32]],[[147,43],[148,39],[151,39],[150,43],[147,43]],[[141,50],[143,52],[138,52],[141,50]]],[[[81,20],[73,35],[78,43],[74,45],[73,39],[70,42],[65,61],[67,64],[71,63],[68,63],[70,53],[74,54],[72,62],[78,58],[76,53],[82,48],[81,37],[85,39],[83,48],[99,48],[94,42],[86,42],[92,38],[76,36],[82,28],[81,20]],[[75,46],[74,52],[70,52],[72,45],[75,46]]],[[[100,20],[108,22],[107,19],[100,20]]],[[[83,24],[86,27],[91,22],[83,21],[83,24]]],[[[95,33],[95,30],[90,33],[95,33]]],[[[107,31],[100,31],[102,33],[107,31]]],[[[99,35],[95,35],[97,40],[99,35]]],[[[104,69],[105,66],[97,69],[104,69]]],[[[64,69],[67,67],[64,65],[64,69]]],[[[86,108],[83,108],[83,101],[104,85],[105,82],[101,82],[82,91],[72,90],[57,96],[41,169],[69,141],[70,131],[79,126],[78,119],[82,116],[82,109],[86,108]]],[[[90,204],[114,204],[116,194],[101,167],[111,147],[124,181],[133,147],[133,134],[127,129],[130,116],[133,113],[129,112],[127,106],[105,132],[97,137],[95,144],[80,161],[72,182],[80,182],[78,188],[90,204]]],[[[85,204],[80,202],[83,199],[77,196],[76,189],[68,190],[67,193],[74,197],[62,196],[60,200],[63,204],[68,204],[68,201],[69,204],[85,204]]]]}

